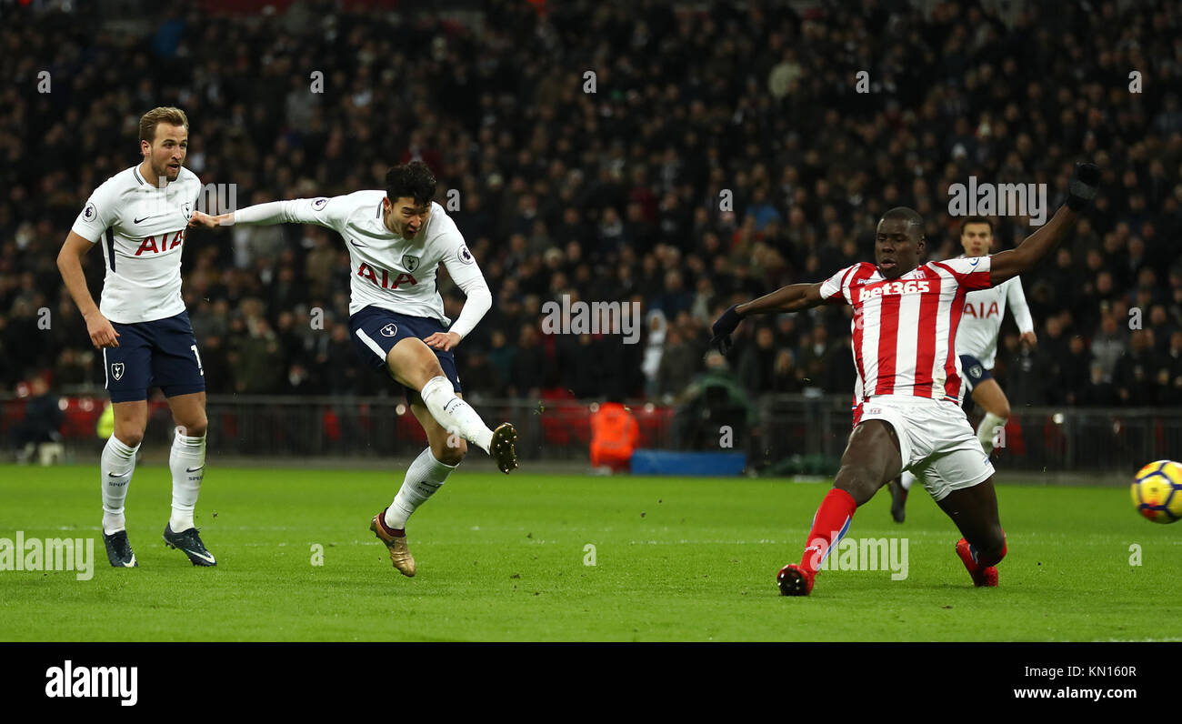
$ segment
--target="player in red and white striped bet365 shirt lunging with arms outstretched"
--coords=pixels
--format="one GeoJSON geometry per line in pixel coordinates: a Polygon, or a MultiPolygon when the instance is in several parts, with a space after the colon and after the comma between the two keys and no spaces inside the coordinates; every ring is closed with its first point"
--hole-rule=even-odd
{"type": "Polygon", "coordinates": [[[956,543],[974,586],[996,586],[1006,555],[993,466],[960,407],[955,334],[965,293],[1031,269],[1074,227],[1099,187],[1099,168],[1077,163],[1067,203],[1018,248],[994,257],[921,265],[923,219],[892,208],[878,222],[875,264],[856,264],[818,284],[792,284],[728,309],[712,343],[726,354],[743,317],[825,303],[853,306],[855,396],[860,401],[842,467],[813,516],[800,563],[780,569],[780,593],[808,595],[817,571],[849,531],[853,511],[910,468],[965,536],[956,543]]]}

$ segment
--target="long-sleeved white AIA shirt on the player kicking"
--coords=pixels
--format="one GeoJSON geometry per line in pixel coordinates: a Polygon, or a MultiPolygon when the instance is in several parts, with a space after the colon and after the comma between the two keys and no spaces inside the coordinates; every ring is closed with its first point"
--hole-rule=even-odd
{"type": "MultiPolygon", "coordinates": [[[[472,252],[443,207],[431,213],[415,239],[403,239],[382,221],[384,190],[344,196],[259,203],[234,213],[235,224],[316,224],[336,231],[349,247],[349,313],[379,306],[413,317],[431,317],[444,327],[436,270],[442,263],[456,285],[487,287],[472,252]]],[[[465,330],[467,331],[467,330],[465,330]]],[[[462,335],[461,335],[462,336],[462,335]]]]}

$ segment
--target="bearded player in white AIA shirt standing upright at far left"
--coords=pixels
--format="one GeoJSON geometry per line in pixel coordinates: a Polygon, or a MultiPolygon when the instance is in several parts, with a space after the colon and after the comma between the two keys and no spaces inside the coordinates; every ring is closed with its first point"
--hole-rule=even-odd
{"type": "Polygon", "coordinates": [[[201,181],[183,167],[189,121],[176,108],[139,119],[143,162],[95,189],[58,254],[58,269],[86,331],[103,351],[115,434],[103,448],[103,539],[111,565],[137,565],[123,515],[136,452],[148,425],[148,388],[160,387],[177,425],[169,468],[173,513],[164,541],[194,565],[215,565],[194,528],[206,465],[206,382],[181,299],[181,251],[201,181]],[[82,260],[99,243],[106,274],[99,305],[82,260]]]}

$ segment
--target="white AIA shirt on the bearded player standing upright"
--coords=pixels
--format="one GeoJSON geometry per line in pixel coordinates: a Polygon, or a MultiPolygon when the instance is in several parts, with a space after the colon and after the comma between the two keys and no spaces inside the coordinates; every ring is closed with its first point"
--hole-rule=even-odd
{"type": "Polygon", "coordinates": [[[135,324],[184,311],[181,250],[200,193],[201,180],[184,167],[176,181],[157,188],[134,166],[90,195],[71,230],[91,244],[102,241],[104,317],[135,324]]]}

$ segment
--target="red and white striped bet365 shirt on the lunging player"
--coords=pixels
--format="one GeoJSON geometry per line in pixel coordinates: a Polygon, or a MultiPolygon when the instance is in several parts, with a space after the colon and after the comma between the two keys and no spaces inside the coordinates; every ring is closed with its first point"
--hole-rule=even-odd
{"type": "Polygon", "coordinates": [[[890,280],[862,261],[823,282],[826,302],[853,306],[853,403],[876,395],[959,403],[955,341],[965,295],[989,286],[989,257],[928,261],[890,280]]]}

